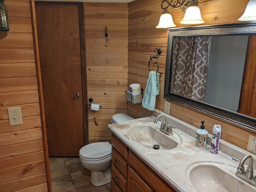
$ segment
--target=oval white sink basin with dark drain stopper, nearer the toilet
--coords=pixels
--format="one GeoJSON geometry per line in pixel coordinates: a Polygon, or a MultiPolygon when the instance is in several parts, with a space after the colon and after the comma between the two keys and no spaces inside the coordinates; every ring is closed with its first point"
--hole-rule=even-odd
{"type": "Polygon", "coordinates": [[[161,132],[159,124],[140,124],[128,130],[130,139],[134,142],[150,149],[170,150],[180,146],[181,140],[176,132],[173,131],[172,136],[168,136],[161,132]]]}

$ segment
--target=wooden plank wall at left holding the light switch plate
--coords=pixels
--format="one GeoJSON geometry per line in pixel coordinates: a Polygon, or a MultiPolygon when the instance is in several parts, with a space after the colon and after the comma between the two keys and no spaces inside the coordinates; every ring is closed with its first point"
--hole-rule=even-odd
{"type": "Polygon", "coordinates": [[[46,192],[46,167],[30,0],[8,0],[10,32],[0,32],[0,191],[46,192]],[[10,126],[7,108],[21,107],[10,126]]]}

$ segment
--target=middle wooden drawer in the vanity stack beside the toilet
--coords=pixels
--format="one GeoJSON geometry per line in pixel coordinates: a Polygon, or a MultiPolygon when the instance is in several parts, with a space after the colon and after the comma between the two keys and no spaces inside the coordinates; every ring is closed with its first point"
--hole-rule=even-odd
{"type": "Polygon", "coordinates": [[[112,163],[127,179],[128,163],[120,156],[120,154],[114,148],[112,148],[112,163]]]}

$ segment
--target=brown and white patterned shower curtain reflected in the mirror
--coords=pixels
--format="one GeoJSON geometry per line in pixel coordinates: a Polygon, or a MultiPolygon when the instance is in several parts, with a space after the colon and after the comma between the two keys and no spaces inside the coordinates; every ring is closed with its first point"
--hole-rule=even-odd
{"type": "Polygon", "coordinates": [[[204,100],[211,37],[174,38],[171,92],[204,100]]]}

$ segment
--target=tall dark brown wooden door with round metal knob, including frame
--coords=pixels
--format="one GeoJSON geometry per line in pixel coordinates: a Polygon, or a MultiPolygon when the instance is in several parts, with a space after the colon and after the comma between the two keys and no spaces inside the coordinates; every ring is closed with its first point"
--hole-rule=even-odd
{"type": "Polygon", "coordinates": [[[83,4],[36,2],[36,22],[49,156],[78,156],[88,144],[83,4]]]}

